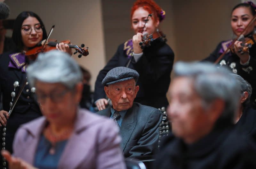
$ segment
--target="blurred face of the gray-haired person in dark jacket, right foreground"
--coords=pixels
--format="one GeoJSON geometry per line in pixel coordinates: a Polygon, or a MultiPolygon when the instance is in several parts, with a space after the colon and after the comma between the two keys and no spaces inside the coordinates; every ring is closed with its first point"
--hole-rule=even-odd
{"type": "Polygon", "coordinates": [[[175,78],[167,92],[168,118],[172,121],[174,135],[186,143],[193,143],[211,130],[216,119],[210,110],[202,106],[202,99],[195,92],[193,80],[188,77],[175,78]]]}

